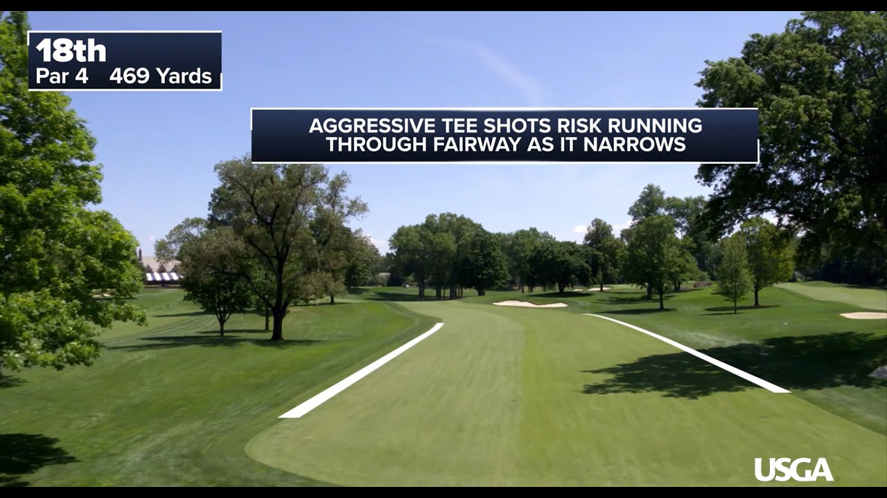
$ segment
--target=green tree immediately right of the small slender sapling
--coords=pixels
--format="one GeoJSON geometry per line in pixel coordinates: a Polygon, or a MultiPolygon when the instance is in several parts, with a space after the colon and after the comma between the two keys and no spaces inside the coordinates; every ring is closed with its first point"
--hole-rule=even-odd
{"type": "Polygon", "coordinates": [[[791,237],[761,217],[742,222],[739,235],[748,253],[752,291],[755,293],[755,307],[758,307],[757,293],[761,289],[791,278],[795,268],[791,237]]]}

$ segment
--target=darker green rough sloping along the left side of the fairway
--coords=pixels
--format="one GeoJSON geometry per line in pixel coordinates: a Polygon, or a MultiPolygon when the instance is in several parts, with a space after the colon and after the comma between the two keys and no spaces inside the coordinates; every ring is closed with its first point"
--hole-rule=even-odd
{"type": "Polygon", "coordinates": [[[296,307],[282,345],[263,317],[228,337],[180,292],[146,292],[149,327],[107,333],[90,368],[29,370],[0,388],[0,485],[304,486],[244,445],[294,406],[434,320],[389,303],[296,307]]]}

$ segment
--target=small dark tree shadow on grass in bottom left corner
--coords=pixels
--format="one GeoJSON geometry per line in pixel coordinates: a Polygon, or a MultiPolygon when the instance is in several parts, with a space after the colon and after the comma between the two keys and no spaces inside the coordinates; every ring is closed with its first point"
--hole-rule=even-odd
{"type": "Polygon", "coordinates": [[[0,434],[0,487],[28,486],[21,476],[46,465],[76,462],[58,443],[42,434],[0,434]]]}

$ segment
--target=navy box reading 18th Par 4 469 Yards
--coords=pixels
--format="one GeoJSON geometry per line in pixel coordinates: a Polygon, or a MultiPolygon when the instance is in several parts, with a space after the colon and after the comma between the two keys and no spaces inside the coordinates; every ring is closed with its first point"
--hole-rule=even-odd
{"type": "Polygon", "coordinates": [[[31,90],[222,89],[220,31],[28,31],[31,90]]]}

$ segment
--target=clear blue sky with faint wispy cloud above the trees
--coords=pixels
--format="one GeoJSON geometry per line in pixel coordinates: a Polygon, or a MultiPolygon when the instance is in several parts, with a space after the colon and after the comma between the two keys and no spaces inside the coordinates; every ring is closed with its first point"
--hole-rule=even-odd
{"type": "MultiPolygon", "coordinates": [[[[32,29],[219,29],[222,92],[78,92],[104,200],[145,254],[205,216],[213,166],[249,152],[250,107],[687,107],[704,60],[797,12],[31,12],[32,29]]],[[[579,240],[625,226],[647,183],[707,194],[697,165],[337,165],[381,250],[426,214],[579,240]]]]}

